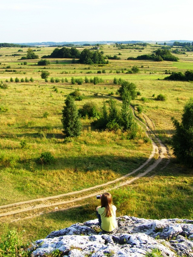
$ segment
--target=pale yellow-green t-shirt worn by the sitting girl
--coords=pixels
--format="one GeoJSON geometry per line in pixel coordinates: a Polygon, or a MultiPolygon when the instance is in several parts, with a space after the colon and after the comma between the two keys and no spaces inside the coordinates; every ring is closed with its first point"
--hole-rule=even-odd
{"type": "Polygon", "coordinates": [[[104,231],[110,232],[116,229],[117,223],[116,223],[116,207],[112,205],[112,212],[109,217],[105,217],[105,207],[99,207],[98,213],[101,216],[101,228],[104,231]]]}

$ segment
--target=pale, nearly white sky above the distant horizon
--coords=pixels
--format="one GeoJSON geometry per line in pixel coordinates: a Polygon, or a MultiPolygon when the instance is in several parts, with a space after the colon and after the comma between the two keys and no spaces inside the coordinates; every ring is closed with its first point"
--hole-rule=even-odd
{"type": "Polygon", "coordinates": [[[193,41],[192,0],[0,0],[0,43],[193,41]]]}

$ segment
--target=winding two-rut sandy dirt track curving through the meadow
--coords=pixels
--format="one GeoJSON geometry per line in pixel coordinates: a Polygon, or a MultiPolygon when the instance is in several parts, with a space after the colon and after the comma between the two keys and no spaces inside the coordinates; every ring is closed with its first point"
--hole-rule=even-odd
{"type": "MultiPolygon", "coordinates": [[[[151,129],[154,129],[153,122],[148,118],[147,115],[144,115],[144,119],[146,120],[146,130],[147,130],[147,132],[150,132],[153,135],[153,132],[151,131],[151,129]]],[[[42,208],[55,207],[55,206],[59,206],[59,205],[63,205],[63,206],[65,205],[65,207],[67,207],[67,208],[64,209],[64,207],[62,207],[63,209],[60,209],[60,210],[66,210],[66,209],[69,208],[69,206],[72,205],[72,203],[78,202],[80,200],[83,200],[83,199],[86,199],[86,198],[89,198],[89,197],[94,197],[94,196],[96,196],[96,194],[101,194],[103,192],[106,192],[108,189],[114,189],[114,188],[118,188],[118,187],[121,187],[123,185],[132,183],[136,179],[139,179],[140,177],[145,176],[148,172],[152,171],[155,167],[157,167],[157,165],[164,158],[168,159],[168,154],[167,154],[166,147],[161,143],[161,141],[158,138],[156,138],[156,141],[159,143],[159,146],[156,145],[154,141],[152,141],[153,150],[152,150],[151,155],[149,156],[147,161],[144,164],[142,164],[139,168],[137,168],[136,170],[134,170],[134,171],[122,176],[122,177],[119,177],[119,178],[117,178],[113,181],[108,181],[104,184],[96,185],[94,187],[85,188],[85,189],[80,190],[80,191],[74,191],[74,192],[69,192],[69,193],[66,193],[66,194],[60,194],[60,195],[51,196],[51,197],[37,198],[37,199],[33,199],[33,200],[2,205],[2,206],[0,206],[0,220],[5,216],[8,216],[10,222],[18,221],[18,220],[22,220],[22,219],[28,219],[28,218],[31,218],[31,217],[38,216],[38,215],[42,214],[42,213],[37,212],[35,214],[33,213],[33,215],[32,215],[30,213],[30,211],[32,211],[32,210],[34,212],[35,210],[38,210],[38,209],[42,210],[42,208]],[[159,154],[159,157],[153,162],[152,165],[148,166],[148,168],[145,171],[143,171],[140,174],[137,174],[135,177],[132,177],[130,179],[126,179],[130,175],[136,173],[137,171],[144,168],[147,164],[149,164],[149,162],[153,160],[153,157],[154,157],[155,153],[159,154]],[[97,191],[97,189],[98,189],[98,191],[97,191]],[[91,191],[91,190],[92,190],[92,192],[89,193],[89,191],[91,191]],[[94,192],[93,192],[93,190],[94,190],[94,192]],[[60,198],[62,198],[62,197],[66,198],[66,197],[70,197],[70,196],[76,195],[76,194],[81,194],[81,193],[84,193],[84,192],[88,192],[88,193],[84,196],[74,197],[73,199],[70,199],[70,200],[62,200],[62,199],[60,200],[60,198]],[[55,201],[53,202],[54,199],[55,199],[55,201]],[[15,219],[16,218],[15,215],[18,214],[18,213],[26,213],[27,216],[17,217],[17,219],[15,219]]],[[[72,198],[72,197],[70,197],[70,198],[72,198]]],[[[76,207],[77,206],[80,206],[80,205],[76,205],[76,207]]],[[[58,207],[56,207],[55,209],[57,210],[58,207]]],[[[55,209],[54,210],[52,209],[51,211],[55,211],[55,209]]],[[[50,212],[50,211],[46,211],[46,212],[50,212]]]]}

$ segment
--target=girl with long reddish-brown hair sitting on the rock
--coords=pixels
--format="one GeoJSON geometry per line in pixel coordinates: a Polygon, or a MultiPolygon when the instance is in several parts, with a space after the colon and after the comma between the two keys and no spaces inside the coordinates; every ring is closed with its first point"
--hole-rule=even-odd
{"type": "Polygon", "coordinates": [[[104,193],[100,197],[101,206],[96,207],[99,226],[104,232],[111,232],[117,227],[116,207],[112,204],[112,195],[104,193]]]}

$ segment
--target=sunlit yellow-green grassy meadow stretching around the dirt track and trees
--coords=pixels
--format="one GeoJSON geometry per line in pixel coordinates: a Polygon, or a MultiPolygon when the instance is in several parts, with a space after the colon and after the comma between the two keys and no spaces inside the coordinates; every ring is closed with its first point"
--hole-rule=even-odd
{"type": "MultiPolygon", "coordinates": [[[[54,48],[32,49],[41,58],[51,54],[54,48]]],[[[41,67],[37,65],[38,59],[18,60],[28,50],[22,48],[23,52],[18,52],[19,49],[21,48],[0,49],[0,81],[8,86],[7,89],[0,89],[0,205],[100,185],[133,171],[147,160],[152,152],[152,145],[144,140],[146,135],[142,129],[131,140],[126,132],[93,130],[90,126],[93,119],[86,118],[82,119],[83,133],[78,138],[68,142],[62,133],[61,111],[66,96],[79,88],[83,100],[75,102],[77,108],[92,101],[101,109],[103,101],[108,101],[110,94],[118,96],[116,91],[119,86],[113,84],[116,77],[136,84],[140,95],[132,101],[132,106],[135,110],[137,106],[142,107],[144,114],[135,111],[136,114],[144,122],[146,115],[151,119],[152,131],[167,146],[171,157],[165,168],[160,164],[145,177],[112,190],[117,216],[193,219],[192,170],[176,162],[170,145],[174,132],[171,117],[180,120],[183,106],[193,96],[193,83],[163,80],[168,76],[165,72],[193,69],[192,52],[186,52],[185,55],[174,54],[179,58],[178,62],[127,60],[128,57],[151,54],[157,47],[148,45],[144,50],[134,50],[103,45],[100,50],[104,55],[117,55],[121,60],[109,60],[109,64],[101,66],[51,58],[51,64],[41,67]],[[25,61],[27,64],[24,65],[25,61]],[[126,74],[133,66],[137,66],[140,73],[126,74]],[[48,82],[41,79],[41,70],[50,73],[48,82]],[[97,74],[98,70],[105,70],[105,73],[97,74]],[[72,85],[70,82],[71,77],[84,79],[85,76],[89,79],[98,76],[103,82],[97,85],[72,85]],[[13,82],[10,82],[11,77],[13,82]],[[16,77],[19,79],[18,83],[15,82],[16,77]],[[32,77],[34,81],[21,82],[26,77],[28,80],[32,77]],[[51,77],[58,78],[60,82],[51,83],[51,77]],[[65,82],[61,83],[61,79],[65,82]],[[157,101],[155,98],[159,94],[165,95],[166,100],[157,101]],[[22,148],[24,141],[26,146],[22,148]],[[37,163],[44,151],[52,153],[54,164],[37,163]]],[[[121,102],[117,101],[117,105],[121,108],[121,102]]],[[[2,236],[9,229],[17,228],[24,231],[26,240],[32,241],[46,236],[52,230],[95,218],[95,208],[99,203],[93,197],[77,204],[82,206],[72,205],[65,210],[65,206],[61,205],[57,211],[53,207],[47,208],[47,211],[42,209],[38,216],[31,213],[31,218],[21,214],[16,217],[18,220],[15,222],[11,222],[9,217],[1,218],[2,236]]]]}

